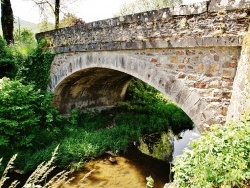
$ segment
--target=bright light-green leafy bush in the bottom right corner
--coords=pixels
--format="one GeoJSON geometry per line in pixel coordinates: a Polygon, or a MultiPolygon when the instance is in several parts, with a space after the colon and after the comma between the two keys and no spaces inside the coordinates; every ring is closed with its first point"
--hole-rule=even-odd
{"type": "Polygon", "coordinates": [[[213,125],[176,158],[178,187],[247,187],[250,183],[249,120],[213,125]]]}

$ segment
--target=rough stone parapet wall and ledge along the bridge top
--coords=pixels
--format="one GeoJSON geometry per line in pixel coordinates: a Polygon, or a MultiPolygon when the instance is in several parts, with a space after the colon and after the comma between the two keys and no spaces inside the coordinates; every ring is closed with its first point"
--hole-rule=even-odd
{"type": "Polygon", "coordinates": [[[36,37],[46,38],[55,52],[183,47],[183,41],[192,46],[194,39],[220,40],[221,36],[235,42],[235,36],[248,30],[248,8],[247,0],[204,1],[76,25],[36,37]]]}

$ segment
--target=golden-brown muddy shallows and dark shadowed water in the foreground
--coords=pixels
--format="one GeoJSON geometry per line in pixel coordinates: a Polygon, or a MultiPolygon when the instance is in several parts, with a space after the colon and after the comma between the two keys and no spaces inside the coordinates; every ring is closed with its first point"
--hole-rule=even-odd
{"type": "Polygon", "coordinates": [[[114,157],[116,163],[111,163],[110,155],[105,155],[84,165],[73,176],[75,179],[66,186],[84,188],[145,188],[146,177],[155,181],[154,188],[162,188],[169,181],[169,164],[141,153],[131,147],[124,155],[114,157]],[[80,180],[91,170],[85,181],[80,180]]]}

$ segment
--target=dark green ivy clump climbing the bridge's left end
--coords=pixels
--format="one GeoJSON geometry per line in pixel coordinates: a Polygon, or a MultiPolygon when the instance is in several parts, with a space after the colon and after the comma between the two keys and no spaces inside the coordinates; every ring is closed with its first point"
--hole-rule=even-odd
{"type": "Polygon", "coordinates": [[[46,92],[50,80],[50,66],[54,54],[44,51],[44,41],[40,41],[37,48],[29,53],[18,72],[18,78],[24,79],[24,83],[34,83],[37,89],[46,92]]]}

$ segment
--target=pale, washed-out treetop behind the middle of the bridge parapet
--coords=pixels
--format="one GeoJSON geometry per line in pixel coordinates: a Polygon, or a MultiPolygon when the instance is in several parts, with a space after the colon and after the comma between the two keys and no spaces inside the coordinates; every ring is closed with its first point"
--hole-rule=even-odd
{"type": "Polygon", "coordinates": [[[157,10],[181,3],[182,0],[134,0],[131,3],[123,4],[122,8],[114,14],[114,16],[124,16],[149,10],[157,10]]]}

